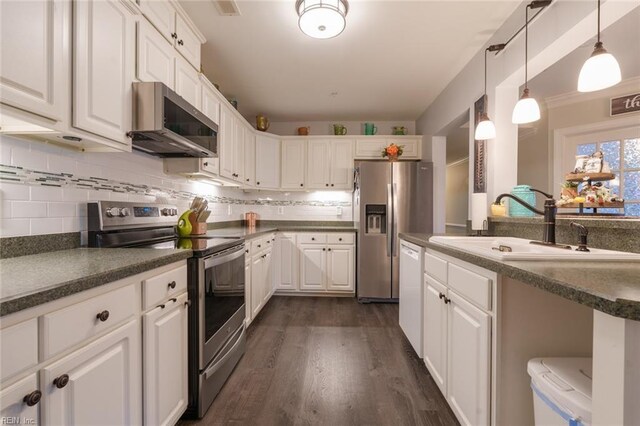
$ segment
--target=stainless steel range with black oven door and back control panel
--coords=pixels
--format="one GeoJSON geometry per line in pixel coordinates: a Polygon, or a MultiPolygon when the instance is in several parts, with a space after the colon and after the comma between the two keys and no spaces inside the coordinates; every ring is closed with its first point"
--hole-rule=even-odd
{"type": "Polygon", "coordinates": [[[167,204],[88,204],[89,247],[182,248],[188,260],[189,407],[201,418],[245,351],[244,239],[211,232],[178,238],[178,210],[167,204]]]}

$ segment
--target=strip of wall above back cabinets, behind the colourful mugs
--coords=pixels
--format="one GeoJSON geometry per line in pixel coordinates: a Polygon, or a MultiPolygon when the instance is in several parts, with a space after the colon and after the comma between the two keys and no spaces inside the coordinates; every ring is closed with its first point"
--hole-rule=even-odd
{"type": "Polygon", "coordinates": [[[310,135],[333,135],[334,124],[344,124],[347,127],[347,135],[363,135],[364,123],[373,123],[378,127],[378,135],[390,135],[395,126],[404,126],[408,135],[415,135],[415,121],[287,121],[274,122],[269,126],[269,133],[280,136],[293,136],[298,134],[298,127],[309,127],[310,135]]]}

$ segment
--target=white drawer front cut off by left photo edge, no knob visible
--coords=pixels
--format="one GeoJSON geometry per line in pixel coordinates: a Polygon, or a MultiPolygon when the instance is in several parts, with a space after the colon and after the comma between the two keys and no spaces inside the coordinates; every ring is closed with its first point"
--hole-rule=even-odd
{"type": "Polygon", "coordinates": [[[0,330],[0,380],[38,364],[38,320],[0,330]]]}

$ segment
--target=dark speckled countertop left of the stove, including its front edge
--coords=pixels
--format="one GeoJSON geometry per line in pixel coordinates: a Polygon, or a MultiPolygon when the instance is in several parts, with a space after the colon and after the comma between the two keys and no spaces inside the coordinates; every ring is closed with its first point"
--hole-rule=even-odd
{"type": "Polygon", "coordinates": [[[179,249],[77,248],[0,259],[0,316],[191,256],[179,249]]]}

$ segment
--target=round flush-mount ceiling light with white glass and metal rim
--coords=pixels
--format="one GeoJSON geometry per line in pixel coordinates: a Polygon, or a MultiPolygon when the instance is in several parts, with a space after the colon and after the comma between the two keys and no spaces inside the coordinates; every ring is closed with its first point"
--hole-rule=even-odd
{"type": "Polygon", "coordinates": [[[313,38],[332,38],[340,35],[347,25],[347,0],[298,0],[298,26],[313,38]]]}

